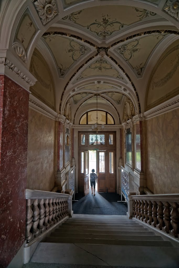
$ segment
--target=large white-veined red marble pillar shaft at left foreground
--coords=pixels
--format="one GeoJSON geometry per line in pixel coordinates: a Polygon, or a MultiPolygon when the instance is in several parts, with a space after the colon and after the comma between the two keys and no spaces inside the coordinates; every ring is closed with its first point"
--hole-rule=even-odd
{"type": "Polygon", "coordinates": [[[6,76],[0,83],[0,264],[7,267],[25,240],[29,93],[6,76]]]}

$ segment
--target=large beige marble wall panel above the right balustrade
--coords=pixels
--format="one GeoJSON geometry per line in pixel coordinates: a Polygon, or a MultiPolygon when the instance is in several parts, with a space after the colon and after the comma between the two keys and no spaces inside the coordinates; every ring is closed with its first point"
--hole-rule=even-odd
{"type": "Polygon", "coordinates": [[[179,192],[179,109],[145,121],[147,187],[154,194],[179,192]]]}

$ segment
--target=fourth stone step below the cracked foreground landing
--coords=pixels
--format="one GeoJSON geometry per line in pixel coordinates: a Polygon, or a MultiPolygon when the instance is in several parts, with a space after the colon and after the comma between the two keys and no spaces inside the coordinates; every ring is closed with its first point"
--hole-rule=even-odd
{"type": "MultiPolygon", "coordinates": [[[[145,229],[146,231],[146,228],[144,228],[144,226],[141,226],[141,225],[121,225],[121,226],[118,226],[118,227],[114,227],[114,226],[108,226],[108,227],[104,227],[104,226],[97,226],[97,225],[91,225],[91,226],[71,226],[71,225],[61,225],[59,227],[60,229],[79,229],[79,230],[82,230],[82,229],[86,229],[86,230],[111,230],[111,231],[131,231],[131,230],[135,230],[135,231],[140,231],[141,229],[145,229]]],[[[147,229],[148,230],[148,229],[147,229]]]]}

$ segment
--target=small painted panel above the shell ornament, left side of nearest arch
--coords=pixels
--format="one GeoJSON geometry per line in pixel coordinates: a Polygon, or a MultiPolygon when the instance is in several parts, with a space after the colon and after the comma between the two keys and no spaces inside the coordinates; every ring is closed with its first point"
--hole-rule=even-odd
{"type": "Polygon", "coordinates": [[[27,51],[36,32],[35,22],[31,17],[30,11],[27,9],[17,26],[14,42],[18,41],[24,47],[24,50],[27,51]]]}

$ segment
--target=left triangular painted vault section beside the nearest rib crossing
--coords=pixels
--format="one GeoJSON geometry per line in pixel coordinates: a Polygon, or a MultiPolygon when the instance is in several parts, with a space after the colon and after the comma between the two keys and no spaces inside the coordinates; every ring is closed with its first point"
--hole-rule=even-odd
{"type": "Polygon", "coordinates": [[[60,77],[65,76],[69,69],[91,50],[84,43],[60,35],[44,36],[42,40],[50,48],[60,77]]]}

